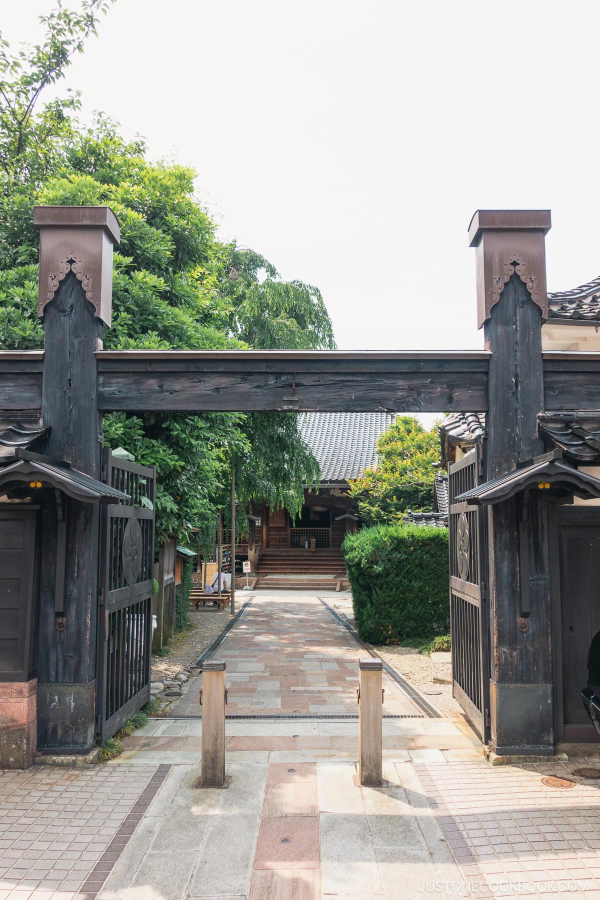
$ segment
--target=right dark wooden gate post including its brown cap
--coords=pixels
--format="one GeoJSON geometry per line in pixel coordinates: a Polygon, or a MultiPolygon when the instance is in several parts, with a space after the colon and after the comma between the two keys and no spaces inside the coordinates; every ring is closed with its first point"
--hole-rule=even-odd
{"type": "MultiPolygon", "coordinates": [[[[550,211],[479,210],[470,222],[479,328],[492,351],[488,481],[544,452],[537,414],[550,227],[550,211]]],[[[488,507],[490,749],[497,754],[553,752],[548,528],[548,504],[536,496],[525,505],[517,496],[488,507]]]]}

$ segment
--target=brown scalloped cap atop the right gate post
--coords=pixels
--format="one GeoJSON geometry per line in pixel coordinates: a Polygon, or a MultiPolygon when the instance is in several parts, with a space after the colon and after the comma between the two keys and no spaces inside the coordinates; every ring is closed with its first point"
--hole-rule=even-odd
{"type": "Polygon", "coordinates": [[[548,318],[544,237],[550,228],[549,210],[478,210],[470,220],[470,247],[477,252],[479,328],[515,274],[540,307],[542,322],[548,318]]]}

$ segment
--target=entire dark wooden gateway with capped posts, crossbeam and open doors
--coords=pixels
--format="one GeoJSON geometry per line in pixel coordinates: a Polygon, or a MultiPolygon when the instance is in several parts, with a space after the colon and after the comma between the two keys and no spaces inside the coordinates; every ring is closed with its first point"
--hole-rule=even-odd
{"type": "Polygon", "coordinates": [[[35,221],[44,349],[0,352],[0,765],[90,752],[148,697],[154,472],[103,447],[112,410],[485,414],[448,467],[455,696],[498,756],[596,743],[600,293],[547,293],[549,211],[473,217],[485,349],[461,352],[105,351],[117,220],[35,221]]]}

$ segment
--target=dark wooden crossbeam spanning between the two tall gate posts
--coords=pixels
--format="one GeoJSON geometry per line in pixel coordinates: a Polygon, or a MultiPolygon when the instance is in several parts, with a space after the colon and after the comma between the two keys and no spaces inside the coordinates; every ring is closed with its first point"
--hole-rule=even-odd
{"type": "Polygon", "coordinates": [[[487,410],[488,353],[102,351],[108,410],[487,410]]]}

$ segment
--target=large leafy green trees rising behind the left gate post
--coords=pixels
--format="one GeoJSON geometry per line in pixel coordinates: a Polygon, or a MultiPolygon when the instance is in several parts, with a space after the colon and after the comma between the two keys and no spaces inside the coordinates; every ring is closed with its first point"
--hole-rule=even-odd
{"type": "MultiPolygon", "coordinates": [[[[88,0],[83,9],[89,13],[105,5],[88,0]]],[[[54,30],[54,40],[64,41],[60,52],[52,51],[53,58],[62,59],[54,80],[75,46],[69,29],[80,27],[62,21],[63,31],[54,30]]],[[[22,77],[29,66],[33,78],[35,54],[23,52],[22,77]]],[[[282,282],[263,257],[216,239],[214,221],[194,197],[192,169],[148,161],[144,141],[123,139],[105,116],[87,129],[70,120],[50,138],[47,128],[45,110],[36,115],[32,107],[27,139],[17,146],[0,119],[0,146],[10,170],[0,191],[0,347],[43,344],[38,239],[31,224],[35,203],[109,205],[119,218],[107,349],[248,347],[250,342],[281,347],[288,341],[293,347],[335,346],[317,289],[282,282]],[[52,147],[46,152],[48,141],[52,147]]],[[[191,525],[212,532],[216,510],[228,509],[232,455],[242,509],[266,501],[295,515],[302,482],[318,480],[318,464],[293,415],[112,414],[104,416],[103,429],[110,446],[124,446],[140,463],[157,465],[161,537],[184,536],[191,525]]],[[[243,528],[244,517],[239,520],[243,528]]]]}

